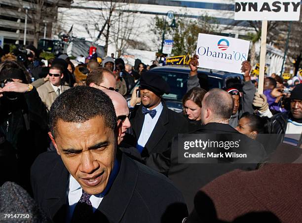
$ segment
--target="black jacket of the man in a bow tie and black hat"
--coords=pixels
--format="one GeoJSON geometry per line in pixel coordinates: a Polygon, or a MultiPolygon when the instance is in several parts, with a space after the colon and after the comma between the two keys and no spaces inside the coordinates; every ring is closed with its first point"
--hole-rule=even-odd
{"type": "MultiPolygon", "coordinates": [[[[165,103],[162,101],[163,110],[158,118],[158,121],[151,133],[151,136],[145,145],[145,148],[142,151],[142,157],[149,157],[151,153],[161,153],[166,151],[170,145],[173,137],[177,136],[179,133],[185,133],[189,131],[189,123],[184,118],[183,115],[168,109],[165,103]]],[[[142,113],[143,106],[140,105],[136,107],[131,114],[130,123],[131,123],[131,132],[133,138],[126,142],[128,144],[136,147],[137,141],[141,135],[143,128],[145,115],[142,113]]]]}

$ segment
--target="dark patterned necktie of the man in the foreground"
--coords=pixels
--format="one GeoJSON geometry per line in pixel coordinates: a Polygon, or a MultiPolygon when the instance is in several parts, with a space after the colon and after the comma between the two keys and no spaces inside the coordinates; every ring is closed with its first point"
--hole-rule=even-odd
{"type": "Polygon", "coordinates": [[[74,214],[72,217],[72,223],[88,222],[93,214],[92,204],[89,200],[90,194],[82,190],[82,196],[76,204],[74,214]]]}

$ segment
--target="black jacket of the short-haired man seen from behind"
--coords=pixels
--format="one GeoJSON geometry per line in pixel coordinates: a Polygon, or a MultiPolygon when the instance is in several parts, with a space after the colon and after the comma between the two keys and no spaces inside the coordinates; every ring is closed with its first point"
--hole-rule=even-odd
{"type": "MultiPolygon", "coordinates": [[[[241,146],[249,144],[252,148],[252,160],[255,163],[179,163],[178,160],[178,138],[175,137],[171,146],[170,166],[168,168],[168,177],[183,193],[185,201],[188,205],[189,212],[193,209],[194,194],[207,183],[215,178],[234,169],[254,170],[258,166],[258,162],[262,162],[265,158],[265,150],[263,146],[247,136],[239,133],[228,124],[208,123],[200,129],[191,132],[193,134],[213,133],[213,134],[239,134],[241,146]],[[255,150],[254,150],[255,149],[255,150]]],[[[242,148],[245,149],[245,148],[242,148]]],[[[164,157],[160,157],[164,159],[164,157]]]]}

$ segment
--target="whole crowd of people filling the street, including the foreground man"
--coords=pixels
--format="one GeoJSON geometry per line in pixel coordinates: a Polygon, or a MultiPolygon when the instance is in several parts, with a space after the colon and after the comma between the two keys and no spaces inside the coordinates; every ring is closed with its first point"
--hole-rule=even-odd
{"type": "Polygon", "coordinates": [[[194,55],[177,113],[158,62],[0,52],[0,213],[24,211],[7,199],[20,193],[36,222],[302,221],[299,78],[265,77],[260,94],[244,61],[241,82],[210,89],[194,55]],[[210,135],[250,156],[180,161],[180,142],[210,135]]]}

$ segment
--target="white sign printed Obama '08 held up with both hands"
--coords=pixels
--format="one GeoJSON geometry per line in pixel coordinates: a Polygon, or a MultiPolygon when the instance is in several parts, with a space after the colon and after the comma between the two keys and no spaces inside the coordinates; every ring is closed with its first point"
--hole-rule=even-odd
{"type": "Polygon", "coordinates": [[[196,55],[200,68],[241,73],[241,64],[247,60],[250,41],[209,34],[198,34],[196,55]]]}

